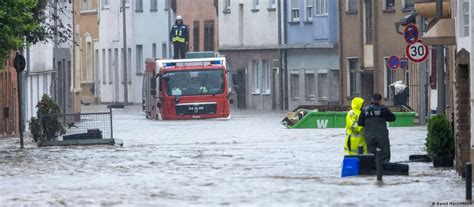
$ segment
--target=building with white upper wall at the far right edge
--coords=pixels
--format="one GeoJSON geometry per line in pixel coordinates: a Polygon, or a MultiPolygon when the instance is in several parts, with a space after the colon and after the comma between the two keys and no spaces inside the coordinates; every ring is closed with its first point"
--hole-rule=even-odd
{"type": "Polygon", "coordinates": [[[454,63],[454,137],[456,149],[456,170],[464,176],[465,163],[474,158],[474,142],[471,139],[474,128],[471,120],[474,113],[474,77],[470,72],[473,68],[471,62],[473,48],[473,11],[474,5],[468,0],[456,0],[451,6],[455,19],[456,49],[452,55],[456,58],[454,63]]]}

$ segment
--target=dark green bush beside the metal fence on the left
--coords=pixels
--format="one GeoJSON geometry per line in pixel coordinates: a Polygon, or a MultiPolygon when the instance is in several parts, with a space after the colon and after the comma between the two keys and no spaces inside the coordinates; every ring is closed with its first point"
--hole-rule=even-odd
{"type": "Polygon", "coordinates": [[[51,97],[44,94],[36,108],[39,119],[33,118],[30,121],[30,130],[35,141],[52,140],[64,133],[65,130],[58,120],[61,110],[51,97]]]}

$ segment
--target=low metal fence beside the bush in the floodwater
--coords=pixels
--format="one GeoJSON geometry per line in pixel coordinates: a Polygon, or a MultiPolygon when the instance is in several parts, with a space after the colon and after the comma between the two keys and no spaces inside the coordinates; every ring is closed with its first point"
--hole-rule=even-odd
{"type": "Polygon", "coordinates": [[[39,117],[39,124],[40,134],[36,136],[41,140],[113,139],[112,110],[44,115],[39,117]]]}

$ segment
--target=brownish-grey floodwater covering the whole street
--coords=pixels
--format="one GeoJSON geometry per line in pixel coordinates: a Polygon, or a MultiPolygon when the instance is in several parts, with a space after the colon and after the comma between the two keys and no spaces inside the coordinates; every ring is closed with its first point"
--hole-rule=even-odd
{"type": "MultiPolygon", "coordinates": [[[[104,106],[89,110],[106,110],[104,106]]],[[[341,178],[344,129],[286,129],[283,113],[150,121],[114,111],[123,147],[37,148],[0,139],[0,206],[430,206],[464,201],[454,170],[410,163],[410,176],[341,178]]],[[[423,154],[425,127],[391,128],[392,161],[423,154]]]]}

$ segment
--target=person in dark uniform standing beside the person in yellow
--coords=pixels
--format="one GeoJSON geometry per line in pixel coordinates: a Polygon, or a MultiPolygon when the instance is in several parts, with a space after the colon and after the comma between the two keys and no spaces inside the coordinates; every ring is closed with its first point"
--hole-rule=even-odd
{"type": "Polygon", "coordinates": [[[388,139],[387,121],[395,121],[395,115],[382,105],[382,96],[378,93],[372,97],[373,102],[363,108],[359,116],[359,126],[364,126],[367,151],[375,154],[380,149],[382,162],[390,161],[390,141],[388,139]]]}

